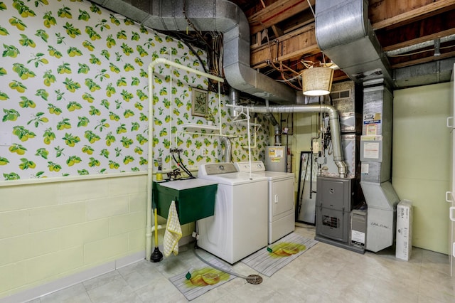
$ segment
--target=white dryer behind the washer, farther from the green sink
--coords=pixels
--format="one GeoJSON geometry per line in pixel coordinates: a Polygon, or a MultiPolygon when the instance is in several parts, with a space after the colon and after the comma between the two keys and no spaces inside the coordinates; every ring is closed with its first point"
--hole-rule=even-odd
{"type": "MultiPolygon", "coordinates": [[[[238,171],[250,171],[250,162],[235,163],[238,171]]],[[[266,171],[262,161],[251,162],[252,174],[267,177],[268,243],[274,243],[295,229],[294,174],[266,171]]]]}

